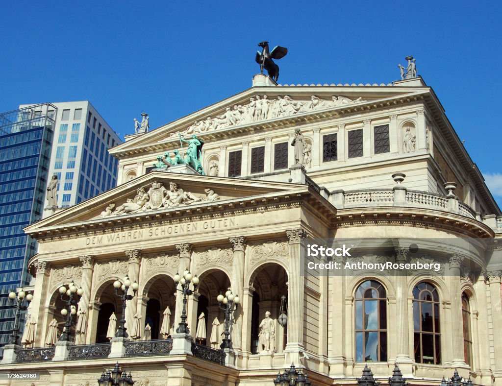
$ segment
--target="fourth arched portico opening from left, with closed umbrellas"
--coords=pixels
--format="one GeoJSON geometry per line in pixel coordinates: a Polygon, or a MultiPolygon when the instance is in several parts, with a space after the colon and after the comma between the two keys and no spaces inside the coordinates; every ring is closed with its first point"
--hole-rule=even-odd
{"type": "MultiPolygon", "coordinates": [[[[201,322],[198,319],[202,312],[205,315],[206,339],[202,340],[202,344],[213,348],[219,348],[223,339],[221,333],[224,330],[225,314],[219,308],[218,300],[216,299],[220,293],[225,293],[230,287],[230,279],[225,272],[219,269],[212,269],[200,275],[200,286],[197,292],[200,294],[197,304],[197,325],[192,323],[192,335],[197,339],[197,327],[201,322]]],[[[232,289],[234,294],[242,296],[237,289],[232,289]]],[[[230,322],[229,331],[230,339],[232,339],[232,325],[230,322]]]]}

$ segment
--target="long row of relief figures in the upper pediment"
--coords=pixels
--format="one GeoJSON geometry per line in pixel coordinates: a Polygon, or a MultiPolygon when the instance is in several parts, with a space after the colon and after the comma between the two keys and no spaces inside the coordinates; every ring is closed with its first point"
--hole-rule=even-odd
{"type": "MultiPolygon", "coordinates": [[[[249,98],[249,103],[235,105],[233,108],[227,107],[225,112],[214,117],[207,117],[184,130],[183,134],[203,133],[207,131],[222,129],[229,126],[242,125],[257,121],[287,117],[290,115],[323,110],[333,107],[362,102],[362,98],[350,99],[343,95],[333,95],[331,100],[324,100],[316,95],[312,95],[310,100],[296,101],[289,95],[278,96],[277,99],[270,100],[267,95],[257,95],[249,98]]],[[[170,137],[178,137],[178,133],[171,133],[170,137]]]]}

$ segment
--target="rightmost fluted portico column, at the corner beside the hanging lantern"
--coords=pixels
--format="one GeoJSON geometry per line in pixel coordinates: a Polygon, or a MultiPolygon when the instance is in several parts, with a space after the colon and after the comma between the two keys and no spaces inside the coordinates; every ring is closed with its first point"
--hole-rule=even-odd
{"type": "Polygon", "coordinates": [[[288,272],[288,342],[285,352],[290,352],[288,361],[298,361],[299,353],[304,351],[303,345],[303,301],[304,277],[301,268],[304,263],[303,243],[307,233],[302,228],[286,231],[289,238],[289,272],[288,272]]]}

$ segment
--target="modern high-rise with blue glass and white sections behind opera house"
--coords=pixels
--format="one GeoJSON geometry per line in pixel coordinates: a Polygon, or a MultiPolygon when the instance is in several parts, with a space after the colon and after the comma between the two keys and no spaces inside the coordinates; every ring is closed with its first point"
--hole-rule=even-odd
{"type": "Polygon", "coordinates": [[[107,150],[120,142],[88,101],[20,105],[0,114],[0,346],[14,326],[8,294],[29,285],[26,262],[37,253],[23,228],[54,213],[44,212],[49,180],[58,177],[59,208],[114,187],[117,159],[107,150]]]}

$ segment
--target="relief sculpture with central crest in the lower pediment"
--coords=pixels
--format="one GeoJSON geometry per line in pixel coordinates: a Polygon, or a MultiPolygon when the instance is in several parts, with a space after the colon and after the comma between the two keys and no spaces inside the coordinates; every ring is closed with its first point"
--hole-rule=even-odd
{"type": "Polygon", "coordinates": [[[166,189],[162,182],[153,182],[148,192],[145,191],[145,188],[140,187],[134,198],[127,199],[125,203],[116,208],[115,204],[109,204],[99,216],[105,218],[147,212],[160,208],[178,208],[179,206],[186,206],[197,202],[213,202],[220,199],[214,190],[206,188],[204,191],[206,192],[206,196],[198,196],[178,187],[176,182],[170,182],[169,189],[166,189]]]}

